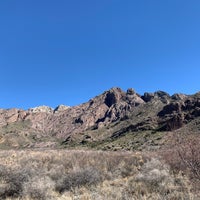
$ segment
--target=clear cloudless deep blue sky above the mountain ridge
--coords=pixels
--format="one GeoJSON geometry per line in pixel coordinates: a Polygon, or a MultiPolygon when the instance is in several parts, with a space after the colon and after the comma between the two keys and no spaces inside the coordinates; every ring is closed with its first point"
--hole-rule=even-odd
{"type": "Polygon", "coordinates": [[[0,107],[200,90],[199,0],[1,0],[0,107]]]}

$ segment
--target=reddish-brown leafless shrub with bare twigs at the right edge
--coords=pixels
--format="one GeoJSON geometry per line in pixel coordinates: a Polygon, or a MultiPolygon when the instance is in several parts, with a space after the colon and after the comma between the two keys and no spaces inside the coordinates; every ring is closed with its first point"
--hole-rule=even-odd
{"type": "Polygon", "coordinates": [[[175,173],[182,172],[199,185],[200,182],[200,138],[196,135],[174,137],[170,150],[162,153],[162,157],[175,173]]]}

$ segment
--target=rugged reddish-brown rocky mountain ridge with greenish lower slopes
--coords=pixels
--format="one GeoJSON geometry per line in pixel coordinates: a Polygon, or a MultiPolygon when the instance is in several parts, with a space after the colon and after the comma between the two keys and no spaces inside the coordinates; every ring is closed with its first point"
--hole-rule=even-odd
{"type": "Polygon", "coordinates": [[[0,109],[0,147],[159,147],[200,117],[200,92],[137,94],[111,88],[78,106],[0,109]]]}

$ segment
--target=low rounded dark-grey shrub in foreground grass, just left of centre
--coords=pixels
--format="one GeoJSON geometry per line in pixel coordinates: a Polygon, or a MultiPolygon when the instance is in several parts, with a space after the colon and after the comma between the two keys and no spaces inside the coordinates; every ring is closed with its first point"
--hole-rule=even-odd
{"type": "Polygon", "coordinates": [[[80,169],[65,175],[56,185],[56,191],[62,193],[80,186],[95,185],[101,180],[101,175],[95,168],[80,169]]]}

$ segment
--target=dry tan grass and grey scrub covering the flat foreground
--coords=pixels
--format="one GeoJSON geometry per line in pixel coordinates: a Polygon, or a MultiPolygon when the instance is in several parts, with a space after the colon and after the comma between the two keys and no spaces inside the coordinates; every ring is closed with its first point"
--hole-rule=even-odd
{"type": "MultiPolygon", "coordinates": [[[[142,153],[0,151],[0,199],[195,199],[190,182],[142,153]]],[[[154,155],[155,157],[155,155],[154,155]]]]}

